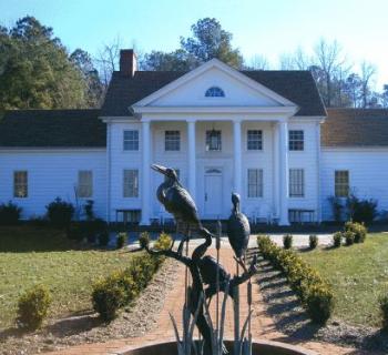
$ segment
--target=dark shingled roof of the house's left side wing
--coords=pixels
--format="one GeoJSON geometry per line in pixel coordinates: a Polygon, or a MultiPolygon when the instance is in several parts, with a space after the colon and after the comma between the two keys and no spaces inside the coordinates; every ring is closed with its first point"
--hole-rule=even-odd
{"type": "Polygon", "coordinates": [[[105,148],[100,110],[14,110],[0,119],[0,146],[105,148]]]}

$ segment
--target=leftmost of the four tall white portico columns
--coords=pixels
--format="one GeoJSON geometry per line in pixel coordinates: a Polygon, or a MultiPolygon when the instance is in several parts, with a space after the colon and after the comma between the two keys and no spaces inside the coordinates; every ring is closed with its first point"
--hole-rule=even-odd
{"type": "Polygon", "coordinates": [[[151,131],[150,122],[142,122],[142,185],[141,185],[141,196],[142,196],[142,225],[150,224],[150,186],[151,186],[151,131]]]}

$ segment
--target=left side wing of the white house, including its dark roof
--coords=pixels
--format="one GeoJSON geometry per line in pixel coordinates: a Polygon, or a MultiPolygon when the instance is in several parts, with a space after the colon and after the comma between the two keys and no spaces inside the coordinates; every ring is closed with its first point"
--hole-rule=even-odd
{"type": "Polygon", "coordinates": [[[0,128],[0,202],[22,207],[22,219],[41,217],[60,197],[75,206],[93,200],[105,217],[105,125],[98,110],[20,110],[0,128]]]}

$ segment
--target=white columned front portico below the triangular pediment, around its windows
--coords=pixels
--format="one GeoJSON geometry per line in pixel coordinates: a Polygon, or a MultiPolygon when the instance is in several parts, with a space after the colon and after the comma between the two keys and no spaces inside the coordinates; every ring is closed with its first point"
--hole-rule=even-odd
{"type": "MultiPolygon", "coordinates": [[[[218,114],[195,116],[194,113],[190,119],[180,118],[178,114],[174,119],[160,115],[142,118],[142,224],[150,224],[150,220],[157,219],[160,212],[155,210],[151,200],[161,183],[159,176],[150,170],[152,163],[180,170],[181,181],[197,201],[203,219],[226,219],[231,209],[231,193],[238,192],[242,195],[242,207],[247,213],[252,214],[259,210],[259,204],[265,204],[267,213],[279,224],[288,224],[288,118],[261,113],[251,114],[245,120],[226,120],[227,115],[231,114],[224,113],[224,118],[218,114]],[[169,156],[160,149],[163,134],[159,133],[170,128],[183,128],[185,131],[181,135],[182,152],[175,156],[169,156]],[[206,151],[206,131],[214,129],[222,133],[223,149],[206,151]],[[247,154],[246,135],[249,129],[264,131],[263,151],[247,154]],[[264,168],[267,175],[264,195],[261,199],[247,196],[246,171],[249,168],[264,168]]],[[[238,115],[242,116],[242,113],[238,115]]]]}

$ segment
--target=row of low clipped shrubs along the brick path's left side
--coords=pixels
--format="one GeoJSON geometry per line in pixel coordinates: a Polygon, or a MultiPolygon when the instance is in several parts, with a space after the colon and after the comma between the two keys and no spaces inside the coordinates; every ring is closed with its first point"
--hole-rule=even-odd
{"type": "MultiPolygon", "coordinates": [[[[171,237],[167,235],[162,237],[162,235],[159,242],[165,245],[169,239],[171,244],[171,237]]],[[[133,256],[125,270],[114,272],[95,282],[92,291],[94,311],[105,322],[113,320],[118,311],[135,300],[149,284],[163,260],[164,257],[161,256],[142,253],[133,256]]]]}

